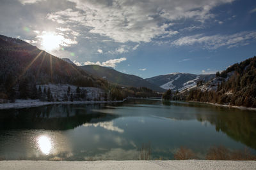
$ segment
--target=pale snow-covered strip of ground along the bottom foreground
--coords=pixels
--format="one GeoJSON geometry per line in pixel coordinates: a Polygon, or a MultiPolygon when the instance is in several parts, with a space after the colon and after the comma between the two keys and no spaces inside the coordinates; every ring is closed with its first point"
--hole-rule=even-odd
{"type": "Polygon", "coordinates": [[[231,160],[3,160],[0,169],[256,169],[256,161],[231,160]]]}

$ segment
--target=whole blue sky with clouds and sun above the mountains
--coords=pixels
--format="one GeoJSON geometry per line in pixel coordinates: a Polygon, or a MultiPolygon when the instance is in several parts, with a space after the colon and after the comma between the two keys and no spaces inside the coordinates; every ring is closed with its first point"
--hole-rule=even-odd
{"type": "Polygon", "coordinates": [[[149,78],[209,74],[256,55],[255,0],[0,0],[0,34],[149,78]]]}

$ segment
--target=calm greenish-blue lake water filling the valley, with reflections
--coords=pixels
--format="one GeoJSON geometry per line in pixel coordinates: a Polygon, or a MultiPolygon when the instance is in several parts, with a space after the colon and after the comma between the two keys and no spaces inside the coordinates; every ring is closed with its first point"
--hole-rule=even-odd
{"type": "Polygon", "coordinates": [[[173,159],[180,146],[204,159],[223,145],[256,153],[256,111],[207,104],[129,100],[0,110],[0,160],[173,159]]]}

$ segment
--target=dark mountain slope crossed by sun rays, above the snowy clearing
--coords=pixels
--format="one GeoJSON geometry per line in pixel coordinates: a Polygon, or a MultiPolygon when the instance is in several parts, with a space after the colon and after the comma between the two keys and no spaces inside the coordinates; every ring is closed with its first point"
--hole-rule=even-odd
{"type": "Polygon", "coordinates": [[[12,89],[48,83],[105,87],[105,80],[38,49],[25,41],[0,35],[0,98],[12,89]]]}

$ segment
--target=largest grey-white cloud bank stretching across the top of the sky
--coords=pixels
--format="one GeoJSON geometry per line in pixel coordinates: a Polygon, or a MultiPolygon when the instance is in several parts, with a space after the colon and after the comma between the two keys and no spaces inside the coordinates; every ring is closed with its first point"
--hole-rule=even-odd
{"type": "Polygon", "coordinates": [[[77,10],[49,13],[47,18],[59,24],[77,24],[92,34],[125,43],[173,36],[179,32],[172,26],[180,20],[204,23],[215,17],[212,8],[234,0],[68,1],[75,3],[77,10]]]}

